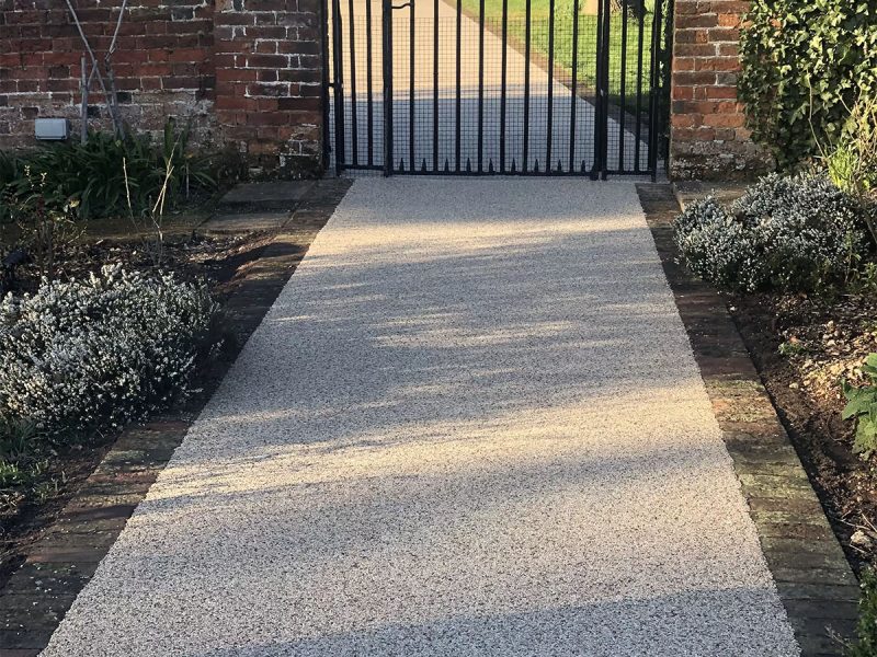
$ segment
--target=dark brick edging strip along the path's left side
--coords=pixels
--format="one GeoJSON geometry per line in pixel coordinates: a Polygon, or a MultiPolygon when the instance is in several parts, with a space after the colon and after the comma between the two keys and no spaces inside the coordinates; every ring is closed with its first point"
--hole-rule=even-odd
{"type": "MultiPolygon", "coordinates": [[[[273,242],[249,265],[224,307],[237,350],[259,326],[349,187],[350,181],[344,180],[315,185],[273,242]]],[[[234,355],[225,369],[232,361],[234,355]]],[[[0,657],[33,657],[46,647],[220,380],[221,376],[207,382],[184,410],[122,433],[0,591],[0,657]]]]}

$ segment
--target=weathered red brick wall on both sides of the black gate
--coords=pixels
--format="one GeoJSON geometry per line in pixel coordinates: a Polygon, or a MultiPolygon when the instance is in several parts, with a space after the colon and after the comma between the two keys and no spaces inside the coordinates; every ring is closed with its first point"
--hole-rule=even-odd
{"type": "MultiPolygon", "coordinates": [[[[73,0],[99,58],[121,0],[73,0]]],[[[130,0],[113,57],[122,116],[140,130],[192,122],[232,145],[253,175],[319,170],[320,0],[130,0]]],[[[770,165],[737,102],[743,0],[676,0],[671,175],[749,176],[770,165]]],[[[0,148],[32,146],[33,120],[79,128],[83,48],[64,0],[0,0],[0,148]]],[[[107,127],[92,92],[90,123],[107,127]]]]}

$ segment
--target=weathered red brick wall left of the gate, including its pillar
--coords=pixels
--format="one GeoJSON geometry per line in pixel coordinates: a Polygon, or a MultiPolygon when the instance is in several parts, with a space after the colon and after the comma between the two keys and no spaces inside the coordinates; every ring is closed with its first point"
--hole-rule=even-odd
{"type": "MultiPolygon", "coordinates": [[[[214,148],[232,143],[255,175],[319,164],[320,0],[129,0],[113,70],[122,117],[158,131],[191,122],[214,148]]],[[[121,0],[73,0],[100,60],[121,0]]],[[[80,128],[84,54],[64,0],[0,0],[0,148],[33,146],[37,117],[80,128]]],[[[92,128],[109,128],[92,88],[92,128]]]]}

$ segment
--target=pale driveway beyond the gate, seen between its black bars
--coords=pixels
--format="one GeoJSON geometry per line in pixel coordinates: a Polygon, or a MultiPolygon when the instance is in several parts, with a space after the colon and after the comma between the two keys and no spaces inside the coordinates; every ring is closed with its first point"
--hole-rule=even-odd
{"type": "MultiPolygon", "coordinates": [[[[397,2],[401,7],[402,3],[397,2]]],[[[456,129],[457,129],[457,19],[452,4],[440,0],[434,13],[433,3],[414,2],[414,41],[411,41],[410,5],[394,10],[394,166],[401,171],[411,171],[411,162],[415,171],[454,171],[457,165],[456,129]],[[437,35],[437,62],[434,59],[434,35],[437,35]],[[411,76],[411,49],[414,50],[413,78],[411,76]],[[433,76],[436,76],[433,78],[433,76]],[[436,94],[437,99],[436,99],[436,94]],[[437,102],[436,102],[437,100],[437,102]],[[435,105],[434,105],[435,103],[435,105]],[[437,123],[436,118],[437,110],[437,123]],[[413,123],[411,113],[413,112],[413,123]],[[435,129],[437,143],[434,143],[435,129]]],[[[381,1],[354,0],[352,3],[341,2],[342,32],[344,36],[342,70],[344,80],[344,141],[346,164],[355,160],[360,165],[383,164],[384,162],[384,102],[383,102],[383,54],[381,54],[381,1]],[[371,33],[372,50],[367,49],[369,22],[366,20],[366,8],[372,12],[371,33]],[[353,14],[351,14],[351,9],[353,14]],[[353,55],[351,56],[351,24],[353,25],[353,55]],[[372,62],[372,114],[368,114],[368,62],[372,62]],[[355,76],[354,76],[355,72],[355,76]],[[353,93],[355,89],[355,106],[353,93]],[[354,120],[355,114],[355,120],[354,120]],[[355,135],[354,135],[355,125],[355,135]],[[368,126],[372,126],[372,150],[369,161],[368,126]],[[354,138],[355,137],[355,138],[354,138]],[[354,153],[355,151],[355,153],[354,153]]],[[[520,22],[520,19],[516,20],[520,22]]],[[[533,19],[531,27],[534,32],[548,32],[548,19],[533,19]]],[[[546,165],[551,170],[588,173],[594,164],[594,129],[595,110],[592,104],[593,91],[585,89],[581,82],[585,70],[596,66],[593,55],[582,57],[579,64],[580,79],[577,84],[579,95],[572,96],[568,74],[559,77],[560,68],[549,74],[547,62],[536,48],[529,64],[524,57],[523,45],[510,42],[503,47],[498,20],[490,19],[486,23],[483,41],[478,21],[466,13],[460,16],[459,39],[459,170],[479,171],[479,143],[481,146],[480,171],[500,170],[500,143],[502,128],[502,58],[506,58],[506,102],[504,120],[505,166],[511,170],[514,161],[515,171],[524,169],[545,172],[546,165]],[[479,47],[483,48],[483,68],[479,67],[479,47]],[[528,85],[528,87],[527,87],[528,85]],[[483,94],[479,102],[479,87],[483,94]],[[551,90],[549,105],[548,90],[551,90]],[[528,93],[528,100],[525,100],[528,93]],[[524,107],[529,111],[528,127],[524,128],[524,107]],[[550,107],[550,110],[549,110],[550,107]],[[574,110],[574,111],[573,111],[574,110]],[[479,112],[481,113],[481,132],[479,140],[479,112]],[[551,120],[548,122],[550,114],[551,120]],[[550,128],[549,128],[550,126],[550,128]],[[550,132],[549,132],[550,129],[550,132]],[[550,135],[551,155],[548,160],[548,141],[550,135]],[[527,157],[524,158],[524,140],[527,140],[527,157]],[[573,148],[570,151],[570,142],[573,148]],[[572,154],[572,159],[570,159],[572,154]]],[[[522,27],[523,30],[523,27],[522,27]]],[[[584,31],[584,28],[583,28],[584,31]]],[[[558,41],[571,41],[571,34],[558,34],[558,41]]],[[[582,41],[588,36],[582,35],[582,41]]],[[[617,37],[618,35],[616,35],[617,37]]],[[[545,36],[547,39],[547,36],[545,36]]],[[[330,50],[332,51],[332,50],[330,50]]],[[[634,51],[629,53],[635,57],[634,51]]],[[[614,62],[613,66],[618,66],[614,62]]],[[[643,65],[648,67],[648,60],[643,65]]],[[[648,78],[648,69],[642,74],[648,78]]],[[[641,170],[648,168],[649,135],[647,122],[642,120],[639,132],[635,128],[634,106],[636,105],[635,80],[626,83],[627,115],[624,129],[617,120],[617,108],[613,107],[607,118],[607,168],[610,170],[633,171],[636,162],[641,170]],[[637,142],[639,136],[639,142],[637,142]],[[619,158],[624,151],[624,157],[619,158]]],[[[614,89],[616,93],[618,89],[614,89]]],[[[333,92],[334,93],[334,92],[333,92]]],[[[648,107],[648,97],[640,99],[643,112],[648,107]]],[[[334,145],[335,105],[329,104],[329,123],[332,143],[334,145]]],[[[330,153],[331,165],[334,166],[334,150],[330,153]]],[[[355,171],[355,170],[354,170],[355,171]]]]}

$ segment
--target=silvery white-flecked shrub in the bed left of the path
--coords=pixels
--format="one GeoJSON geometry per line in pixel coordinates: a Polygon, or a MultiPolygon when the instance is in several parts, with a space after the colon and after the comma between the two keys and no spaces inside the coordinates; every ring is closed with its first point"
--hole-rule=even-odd
{"type": "Polygon", "coordinates": [[[185,391],[217,308],[203,286],[119,266],[0,301],[0,419],[46,434],[121,423],[185,391]]]}

